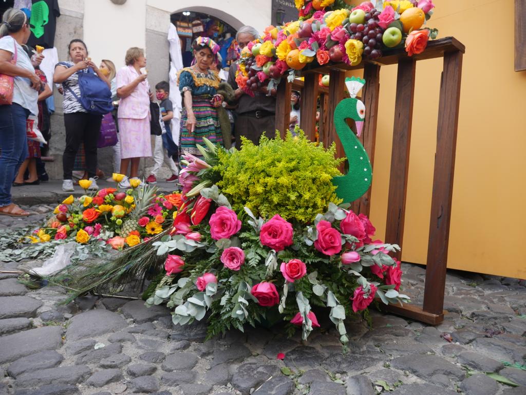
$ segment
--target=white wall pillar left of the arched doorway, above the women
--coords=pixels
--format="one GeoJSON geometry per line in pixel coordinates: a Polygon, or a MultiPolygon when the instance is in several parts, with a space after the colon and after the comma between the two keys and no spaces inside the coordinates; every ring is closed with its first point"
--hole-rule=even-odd
{"type": "Polygon", "coordinates": [[[84,3],[84,41],[97,63],[109,59],[117,70],[124,66],[129,47],[146,46],[146,0],[115,5],[110,0],[84,3]]]}

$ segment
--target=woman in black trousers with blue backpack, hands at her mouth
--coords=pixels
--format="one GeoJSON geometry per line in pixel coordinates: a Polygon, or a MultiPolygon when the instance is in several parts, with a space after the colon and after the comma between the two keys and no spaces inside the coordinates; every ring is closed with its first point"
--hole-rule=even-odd
{"type": "Polygon", "coordinates": [[[70,62],[55,66],[53,82],[62,84],[64,90],[64,126],[66,148],[64,149],[62,190],[72,192],[75,156],[82,143],[86,153],[86,170],[92,181],[90,190],[98,189],[97,141],[102,116],[112,109],[110,82],[99,68],[88,58],[86,44],[73,39],[68,45],[70,62]]]}

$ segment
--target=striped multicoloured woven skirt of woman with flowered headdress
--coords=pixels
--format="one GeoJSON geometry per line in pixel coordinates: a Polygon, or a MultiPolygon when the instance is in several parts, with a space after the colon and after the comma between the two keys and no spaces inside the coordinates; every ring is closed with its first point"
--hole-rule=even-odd
{"type": "Polygon", "coordinates": [[[191,133],[186,127],[186,121],[188,120],[186,109],[181,114],[180,152],[181,155],[187,152],[197,157],[202,157],[197,145],[205,146],[203,137],[209,139],[213,144],[219,143],[222,145],[221,128],[217,110],[211,105],[209,97],[194,96],[192,98],[192,109],[196,117],[194,133],[191,133]]]}

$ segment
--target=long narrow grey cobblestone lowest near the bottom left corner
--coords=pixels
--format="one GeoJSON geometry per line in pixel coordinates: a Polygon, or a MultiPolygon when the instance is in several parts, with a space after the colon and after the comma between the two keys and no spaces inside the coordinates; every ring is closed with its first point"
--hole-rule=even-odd
{"type": "Polygon", "coordinates": [[[21,374],[16,379],[17,387],[37,387],[46,384],[74,385],[86,380],[92,371],[86,366],[61,366],[21,374]]]}

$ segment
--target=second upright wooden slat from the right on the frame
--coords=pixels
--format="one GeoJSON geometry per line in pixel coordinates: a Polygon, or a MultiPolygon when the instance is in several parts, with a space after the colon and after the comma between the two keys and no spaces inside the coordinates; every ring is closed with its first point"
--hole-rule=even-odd
{"type": "MultiPolygon", "coordinates": [[[[400,60],[395,100],[395,123],[387,201],[386,242],[402,247],[403,225],[406,214],[409,147],[413,118],[414,73],[416,62],[400,60]]],[[[401,252],[393,254],[401,260],[401,252]]]]}

